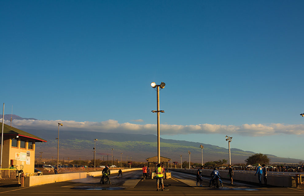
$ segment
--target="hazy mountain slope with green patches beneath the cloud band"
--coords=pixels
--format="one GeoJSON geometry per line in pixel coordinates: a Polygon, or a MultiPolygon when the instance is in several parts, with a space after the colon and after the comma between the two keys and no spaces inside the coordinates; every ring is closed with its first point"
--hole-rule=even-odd
{"type": "MultiPolygon", "coordinates": [[[[47,143],[37,143],[36,152],[43,151],[45,158],[57,157],[57,131],[29,131],[43,139],[47,143]]],[[[109,156],[111,159],[111,148],[114,148],[114,160],[120,160],[120,153],[123,153],[123,160],[129,159],[145,162],[148,157],[157,155],[157,137],[156,135],[124,134],[124,133],[100,133],[90,131],[61,131],[59,136],[60,142],[60,159],[92,159],[94,139],[96,142],[96,158],[103,159],[102,156],[109,156]]],[[[191,151],[191,162],[201,162],[202,143],[179,141],[172,139],[161,139],[161,156],[168,157],[172,161],[180,162],[189,161],[188,151],[191,151]]],[[[219,159],[228,160],[228,149],[210,144],[204,146],[204,162],[215,161],[219,159]]],[[[232,163],[244,163],[244,160],[255,154],[251,151],[243,151],[237,148],[231,149],[232,163]]],[[[38,153],[36,153],[38,156],[38,153]]],[[[271,162],[280,163],[298,163],[300,159],[281,158],[275,155],[268,155],[271,162]]],[[[105,159],[106,160],[106,159],[105,159]]]]}

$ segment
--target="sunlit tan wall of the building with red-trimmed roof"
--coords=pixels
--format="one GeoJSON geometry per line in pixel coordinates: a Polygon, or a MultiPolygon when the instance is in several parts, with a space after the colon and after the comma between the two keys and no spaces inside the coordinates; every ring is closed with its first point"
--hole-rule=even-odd
{"type": "MultiPolygon", "coordinates": [[[[14,160],[14,165],[18,170],[22,169],[24,173],[34,173],[35,165],[35,140],[25,137],[18,138],[18,147],[12,147],[12,139],[6,139],[6,145],[3,149],[7,147],[9,149],[8,159],[6,159],[6,168],[10,167],[10,161],[14,160]],[[25,141],[25,148],[20,147],[20,141],[25,141]],[[33,142],[33,149],[28,148],[28,142],[33,142]],[[17,154],[16,154],[17,153],[17,154]]],[[[5,167],[3,167],[5,168],[5,167]]]]}

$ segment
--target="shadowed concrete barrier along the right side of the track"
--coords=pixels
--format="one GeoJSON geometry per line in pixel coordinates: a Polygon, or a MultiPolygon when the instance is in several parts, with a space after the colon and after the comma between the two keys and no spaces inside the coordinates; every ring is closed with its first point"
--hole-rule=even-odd
{"type": "MultiPolygon", "coordinates": [[[[179,171],[183,173],[190,173],[190,174],[196,174],[197,169],[170,169],[171,171],[179,171]]],[[[203,170],[202,175],[210,177],[212,170],[203,170]]],[[[221,178],[224,179],[230,179],[228,176],[228,170],[223,171],[219,170],[221,178]]],[[[196,180],[196,179],[195,179],[196,180]]],[[[238,173],[234,172],[233,180],[239,180],[243,182],[253,182],[253,183],[259,183],[258,175],[254,174],[246,174],[246,173],[238,173]]],[[[262,177],[262,183],[263,177],[262,177]]],[[[267,176],[267,185],[272,186],[280,186],[280,187],[296,187],[296,182],[294,180],[294,177],[292,176],[277,176],[277,175],[268,175],[267,176]]]]}

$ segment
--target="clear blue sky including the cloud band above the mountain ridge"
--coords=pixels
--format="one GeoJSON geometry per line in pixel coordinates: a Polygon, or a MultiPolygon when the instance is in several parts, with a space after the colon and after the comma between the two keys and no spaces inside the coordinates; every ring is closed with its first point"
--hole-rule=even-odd
{"type": "Polygon", "coordinates": [[[114,122],[147,134],[156,123],[150,83],[165,82],[163,138],[227,147],[230,134],[233,147],[304,159],[303,8],[303,1],[1,1],[5,113],[13,105],[22,117],[114,122]]]}

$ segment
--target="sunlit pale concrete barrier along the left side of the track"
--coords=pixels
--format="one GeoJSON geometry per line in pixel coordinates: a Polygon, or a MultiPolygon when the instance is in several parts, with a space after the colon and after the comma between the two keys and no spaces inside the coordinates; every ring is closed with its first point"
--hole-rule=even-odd
{"type": "MultiPolygon", "coordinates": [[[[141,168],[123,169],[123,172],[142,170],[141,168]]],[[[117,174],[119,170],[111,170],[111,174],[117,174]]],[[[100,176],[101,171],[91,171],[91,172],[79,172],[79,173],[66,173],[66,174],[52,174],[52,175],[41,175],[41,176],[28,176],[24,179],[24,186],[36,186],[42,184],[49,184],[54,182],[63,182],[68,180],[75,180],[81,178],[87,178],[88,176],[100,176]]]]}

